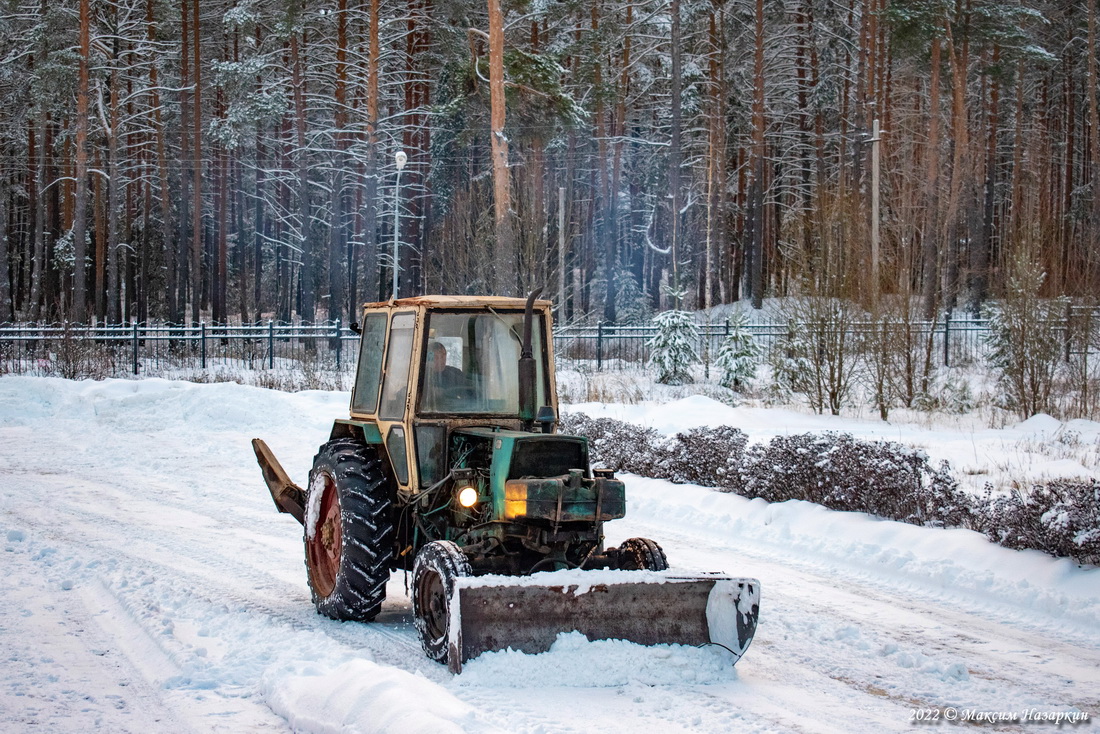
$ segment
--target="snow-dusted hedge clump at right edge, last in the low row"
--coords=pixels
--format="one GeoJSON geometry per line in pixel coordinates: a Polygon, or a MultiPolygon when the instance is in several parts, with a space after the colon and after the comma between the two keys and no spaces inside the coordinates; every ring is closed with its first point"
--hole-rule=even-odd
{"type": "Polygon", "coordinates": [[[1031,492],[987,491],[986,535],[1008,548],[1034,548],[1053,556],[1100,565],[1100,483],[1053,480],[1031,492]]]}

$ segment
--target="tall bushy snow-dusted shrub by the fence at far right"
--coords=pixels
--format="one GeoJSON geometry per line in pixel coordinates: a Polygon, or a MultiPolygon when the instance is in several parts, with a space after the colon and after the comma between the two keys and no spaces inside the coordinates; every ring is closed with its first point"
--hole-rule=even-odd
{"type": "Polygon", "coordinates": [[[1045,277],[1037,264],[1018,264],[1003,300],[991,308],[986,338],[1004,407],[1023,418],[1054,413],[1055,375],[1064,348],[1059,319],[1065,303],[1040,298],[1045,277]]]}

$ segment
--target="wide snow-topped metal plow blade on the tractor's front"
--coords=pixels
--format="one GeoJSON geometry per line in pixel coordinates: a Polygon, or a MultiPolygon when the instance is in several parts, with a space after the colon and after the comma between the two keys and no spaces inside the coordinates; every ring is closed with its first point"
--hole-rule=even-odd
{"type": "Polygon", "coordinates": [[[717,644],[733,653],[736,662],[752,642],[760,613],[759,581],[721,574],[556,571],[466,577],[455,579],[454,596],[447,662],[455,673],[482,653],[544,653],[559,633],[572,631],[590,640],[717,644]],[[598,578],[586,581],[590,573],[598,578]]]}

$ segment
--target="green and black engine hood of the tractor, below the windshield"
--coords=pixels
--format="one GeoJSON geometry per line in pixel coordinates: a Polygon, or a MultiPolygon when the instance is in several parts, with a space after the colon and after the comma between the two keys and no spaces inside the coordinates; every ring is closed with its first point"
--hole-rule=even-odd
{"type": "Polygon", "coordinates": [[[626,515],[624,483],[610,472],[592,475],[584,437],[463,428],[452,435],[451,456],[458,469],[482,468],[491,513],[482,522],[594,526],[626,515]]]}

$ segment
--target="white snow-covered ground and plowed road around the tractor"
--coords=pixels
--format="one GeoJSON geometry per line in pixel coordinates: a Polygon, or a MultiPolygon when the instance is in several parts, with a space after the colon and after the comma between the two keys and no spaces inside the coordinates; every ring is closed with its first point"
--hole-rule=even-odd
{"type": "MultiPolygon", "coordinates": [[[[878,733],[925,709],[941,722],[1100,716],[1100,570],[967,530],[629,476],[610,543],[650,536],[674,568],[761,580],[737,667],[713,648],[564,636],[452,677],[420,654],[402,576],[375,624],[314,613],[301,530],[255,467],[249,439],[262,436],[302,482],[346,401],[0,379],[0,732],[878,733]]],[[[755,440],[878,436],[976,481],[1096,475],[1100,436],[1085,421],[931,430],[705,398],[579,407],[662,430],[727,423],[755,440]]]]}

